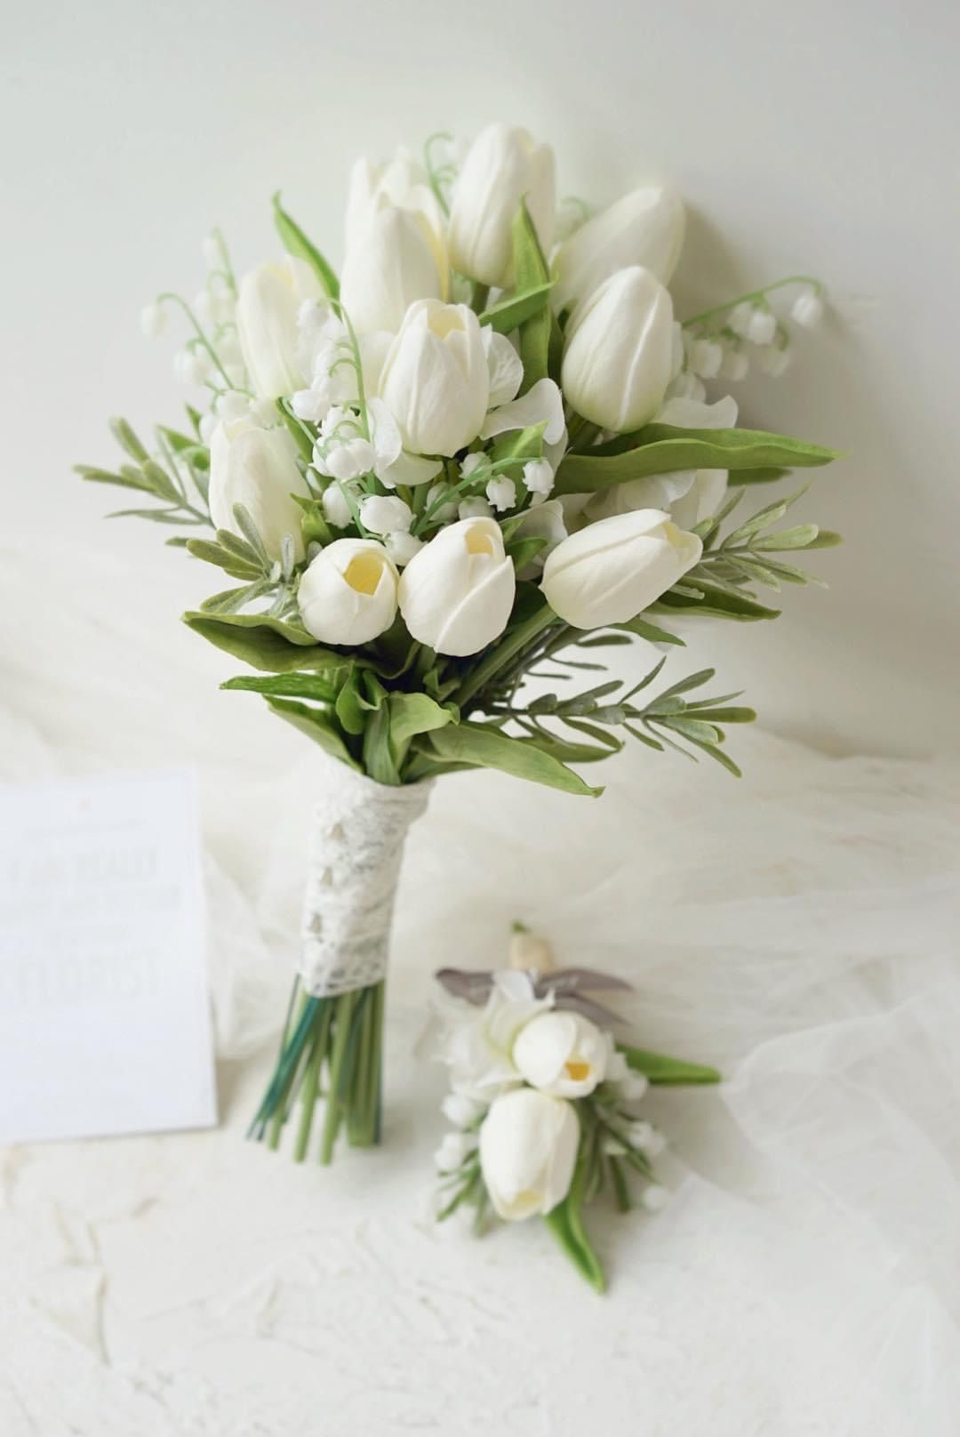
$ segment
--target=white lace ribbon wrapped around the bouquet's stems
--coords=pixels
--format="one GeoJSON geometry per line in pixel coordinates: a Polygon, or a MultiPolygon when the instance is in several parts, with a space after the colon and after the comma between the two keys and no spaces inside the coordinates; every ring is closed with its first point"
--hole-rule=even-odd
{"type": "Polygon", "coordinates": [[[299,966],[313,997],[384,977],[404,841],[431,787],[374,783],[336,762],[325,767],[310,828],[299,966]]]}

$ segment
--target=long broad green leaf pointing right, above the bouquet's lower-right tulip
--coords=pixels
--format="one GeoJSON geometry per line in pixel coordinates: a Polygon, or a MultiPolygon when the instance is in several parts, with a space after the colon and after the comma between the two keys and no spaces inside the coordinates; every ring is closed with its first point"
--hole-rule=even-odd
{"type": "Polygon", "coordinates": [[[648,424],[586,454],[566,454],[556,471],[553,491],[595,493],[609,484],[680,468],[727,468],[739,474],[772,464],[792,468],[829,464],[838,457],[835,450],[763,430],[684,430],[648,424]]]}

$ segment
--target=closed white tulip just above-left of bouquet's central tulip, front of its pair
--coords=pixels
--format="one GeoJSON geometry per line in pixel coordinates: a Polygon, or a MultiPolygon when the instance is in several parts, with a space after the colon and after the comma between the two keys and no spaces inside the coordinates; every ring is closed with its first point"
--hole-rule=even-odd
{"type": "Polygon", "coordinates": [[[341,303],[359,333],[397,333],[415,299],[443,299],[443,276],[420,216],[378,210],[346,251],[341,303]]]}

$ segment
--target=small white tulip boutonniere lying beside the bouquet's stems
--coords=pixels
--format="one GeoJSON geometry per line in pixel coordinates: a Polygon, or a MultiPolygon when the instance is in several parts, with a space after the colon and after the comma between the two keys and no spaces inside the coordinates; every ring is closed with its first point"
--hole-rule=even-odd
{"type": "Polygon", "coordinates": [[[444,1000],[433,1053],[450,1068],[441,1104],[451,1131],[437,1150],[438,1219],[474,1210],[489,1219],[542,1217],[586,1280],[602,1292],[604,1269],[583,1209],[604,1188],[615,1207],[658,1211],[668,1200],[654,1158],[667,1140],[642,1115],[650,1085],[716,1083],[716,1068],[634,1048],[596,993],[629,984],[591,969],[553,967],[543,938],[520,928],[510,967],[443,969],[444,1000]]]}

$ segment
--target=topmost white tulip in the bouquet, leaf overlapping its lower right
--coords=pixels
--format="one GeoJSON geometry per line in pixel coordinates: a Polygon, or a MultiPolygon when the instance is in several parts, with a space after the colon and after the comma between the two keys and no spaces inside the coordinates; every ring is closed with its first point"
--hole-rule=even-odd
{"type": "Polygon", "coordinates": [[[463,162],[450,211],[453,267],[481,285],[509,285],[512,226],[520,200],[545,253],[553,243],[556,195],[553,151],[526,129],[487,125],[463,162]]]}

